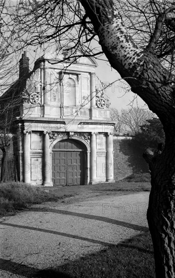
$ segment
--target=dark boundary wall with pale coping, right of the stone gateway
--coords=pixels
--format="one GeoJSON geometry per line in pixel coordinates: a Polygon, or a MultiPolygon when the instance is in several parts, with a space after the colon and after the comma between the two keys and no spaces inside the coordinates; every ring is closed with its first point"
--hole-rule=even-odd
{"type": "Polygon", "coordinates": [[[149,167],[143,158],[143,146],[134,137],[113,136],[114,179],[120,180],[134,173],[148,173],[149,167]]]}

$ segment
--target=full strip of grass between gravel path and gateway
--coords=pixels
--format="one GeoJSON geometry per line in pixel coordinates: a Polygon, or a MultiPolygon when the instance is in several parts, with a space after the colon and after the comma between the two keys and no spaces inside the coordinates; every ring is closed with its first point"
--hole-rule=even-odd
{"type": "Polygon", "coordinates": [[[130,192],[150,191],[150,182],[100,183],[89,186],[66,186],[42,188],[22,182],[0,183],[0,216],[21,210],[32,204],[58,201],[71,196],[89,197],[96,194],[129,194],[130,192]],[[121,192],[121,193],[120,193],[121,192]]]}

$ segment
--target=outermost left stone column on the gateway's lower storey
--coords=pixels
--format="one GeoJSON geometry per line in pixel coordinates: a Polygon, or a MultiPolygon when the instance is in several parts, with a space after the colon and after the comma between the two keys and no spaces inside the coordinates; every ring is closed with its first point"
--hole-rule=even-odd
{"type": "Polygon", "coordinates": [[[31,181],[31,165],[30,165],[30,133],[24,130],[24,182],[31,181]]]}

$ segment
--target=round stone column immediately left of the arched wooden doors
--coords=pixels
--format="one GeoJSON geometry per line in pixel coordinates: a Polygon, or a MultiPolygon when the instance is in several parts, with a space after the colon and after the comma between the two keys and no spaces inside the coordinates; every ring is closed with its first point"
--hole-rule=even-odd
{"type": "Polygon", "coordinates": [[[49,150],[49,132],[43,132],[43,186],[51,185],[51,163],[49,150]]]}

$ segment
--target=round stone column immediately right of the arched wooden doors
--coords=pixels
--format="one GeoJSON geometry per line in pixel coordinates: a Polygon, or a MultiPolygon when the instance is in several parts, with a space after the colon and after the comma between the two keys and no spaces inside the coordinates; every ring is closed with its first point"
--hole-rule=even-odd
{"type": "Polygon", "coordinates": [[[90,164],[90,172],[91,172],[91,180],[90,183],[95,183],[97,179],[97,165],[96,165],[96,133],[92,132],[91,135],[91,164],[90,164]]]}

